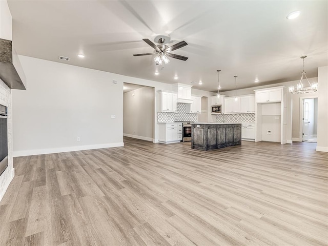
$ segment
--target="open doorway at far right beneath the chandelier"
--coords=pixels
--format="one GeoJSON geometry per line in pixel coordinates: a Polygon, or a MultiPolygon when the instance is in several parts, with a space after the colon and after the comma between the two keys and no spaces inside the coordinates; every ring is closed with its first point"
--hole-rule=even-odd
{"type": "Polygon", "coordinates": [[[302,141],[317,142],[318,98],[303,98],[302,106],[302,141]]]}

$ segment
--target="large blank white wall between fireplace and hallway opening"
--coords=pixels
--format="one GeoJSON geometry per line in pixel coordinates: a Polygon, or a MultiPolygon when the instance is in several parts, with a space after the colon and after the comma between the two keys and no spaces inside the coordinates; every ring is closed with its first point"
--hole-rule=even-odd
{"type": "Polygon", "coordinates": [[[122,81],[113,84],[110,73],[98,70],[20,60],[29,88],[12,93],[14,156],[123,146],[122,81]]]}

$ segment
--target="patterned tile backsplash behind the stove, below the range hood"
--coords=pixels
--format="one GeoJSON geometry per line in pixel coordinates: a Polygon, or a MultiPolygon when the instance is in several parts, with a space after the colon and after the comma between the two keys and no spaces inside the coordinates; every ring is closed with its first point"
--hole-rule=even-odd
{"type": "Polygon", "coordinates": [[[176,112],[157,112],[157,122],[197,121],[198,114],[187,113],[187,104],[176,104],[176,112]]]}

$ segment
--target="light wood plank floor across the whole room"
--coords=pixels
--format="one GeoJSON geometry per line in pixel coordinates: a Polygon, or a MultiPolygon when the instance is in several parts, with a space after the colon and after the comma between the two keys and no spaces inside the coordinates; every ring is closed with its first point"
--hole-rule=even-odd
{"type": "Polygon", "coordinates": [[[125,138],[14,158],[0,245],[327,245],[328,153],[316,144],[125,138]]]}

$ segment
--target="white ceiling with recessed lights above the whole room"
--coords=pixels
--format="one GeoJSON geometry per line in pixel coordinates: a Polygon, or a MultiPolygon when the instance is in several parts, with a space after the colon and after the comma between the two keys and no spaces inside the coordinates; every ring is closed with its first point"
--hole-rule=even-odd
{"type": "MultiPolygon", "coordinates": [[[[13,44],[18,54],[163,83],[195,81],[193,88],[216,91],[308,77],[328,65],[328,1],[17,1],[8,0],[13,44]],[[292,11],[301,11],[294,20],[292,11]],[[169,35],[172,53],[163,70],[142,38],[169,35]],[[85,58],[77,57],[78,53],[85,58]],[[70,57],[59,61],[58,56],[70,57]],[[158,70],[159,75],[154,75],[158,70]],[[175,80],[173,77],[179,78],[175,80]],[[259,82],[254,80],[258,78],[259,82]],[[203,84],[198,85],[201,80],[203,84]]],[[[129,82],[129,81],[124,81],[129,82]]]]}

